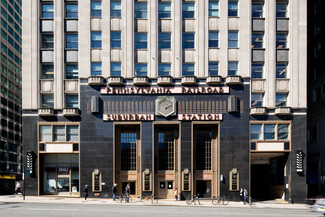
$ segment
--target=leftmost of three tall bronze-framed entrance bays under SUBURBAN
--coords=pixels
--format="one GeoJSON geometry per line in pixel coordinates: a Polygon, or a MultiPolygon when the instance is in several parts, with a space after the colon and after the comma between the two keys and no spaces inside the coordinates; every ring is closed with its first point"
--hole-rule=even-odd
{"type": "Polygon", "coordinates": [[[117,125],[115,128],[115,182],[117,194],[125,194],[130,185],[130,196],[141,194],[140,126],[117,125]]]}

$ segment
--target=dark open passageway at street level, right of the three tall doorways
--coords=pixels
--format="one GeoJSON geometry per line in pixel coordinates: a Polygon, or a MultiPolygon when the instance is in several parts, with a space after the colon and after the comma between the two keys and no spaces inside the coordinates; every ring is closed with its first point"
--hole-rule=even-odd
{"type": "Polygon", "coordinates": [[[284,153],[252,154],[251,196],[253,199],[285,199],[286,161],[287,155],[284,153]]]}

